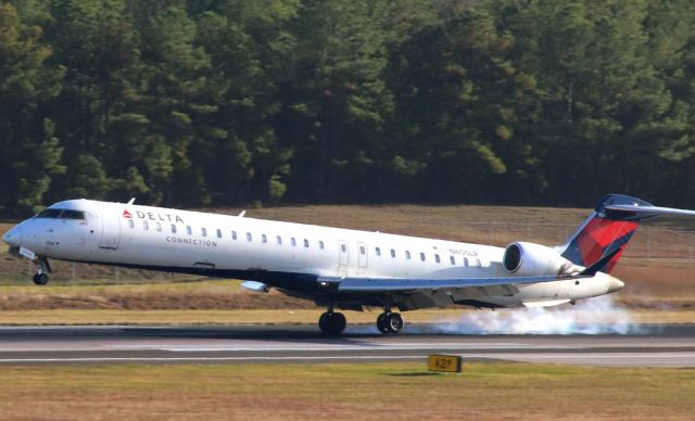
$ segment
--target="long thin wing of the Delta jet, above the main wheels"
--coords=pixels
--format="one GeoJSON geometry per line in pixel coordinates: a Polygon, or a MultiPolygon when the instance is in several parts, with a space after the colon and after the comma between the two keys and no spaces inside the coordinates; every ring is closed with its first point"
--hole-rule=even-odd
{"type": "Polygon", "coordinates": [[[515,286],[525,283],[552,282],[566,279],[591,278],[578,276],[539,276],[506,278],[466,278],[466,279],[406,279],[406,278],[332,278],[321,277],[319,282],[338,285],[339,292],[413,292],[418,290],[456,290],[490,286],[515,286]]]}

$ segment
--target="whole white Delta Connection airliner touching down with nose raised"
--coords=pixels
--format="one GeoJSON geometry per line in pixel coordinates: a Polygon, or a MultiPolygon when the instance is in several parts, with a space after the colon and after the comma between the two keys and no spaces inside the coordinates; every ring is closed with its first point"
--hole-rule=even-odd
{"type": "Polygon", "coordinates": [[[49,206],[2,240],[36,263],[40,285],[49,258],[235,278],[326,306],[325,333],[345,329],[336,307],[364,306],[383,308],[377,328],[396,333],[404,324],[396,307],[555,306],[620,290],[608,273],[639,221],[659,214],[695,216],[610,194],[563,245],[503,248],[80,199],[49,206]]]}

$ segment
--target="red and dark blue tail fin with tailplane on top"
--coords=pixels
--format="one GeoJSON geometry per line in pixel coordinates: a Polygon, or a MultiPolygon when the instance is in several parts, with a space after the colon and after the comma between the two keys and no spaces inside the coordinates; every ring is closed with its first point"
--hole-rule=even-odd
{"type": "Polygon", "coordinates": [[[654,206],[641,199],[622,194],[604,196],[596,209],[577,229],[565,245],[560,246],[563,257],[574,265],[593,266],[602,258],[602,272],[610,272],[626,250],[640,221],[660,214],[695,216],[695,212],[654,206]]]}

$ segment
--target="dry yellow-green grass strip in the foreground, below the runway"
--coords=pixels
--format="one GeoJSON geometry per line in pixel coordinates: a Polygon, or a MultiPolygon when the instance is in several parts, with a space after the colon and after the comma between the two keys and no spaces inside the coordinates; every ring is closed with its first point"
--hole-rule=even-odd
{"type": "Polygon", "coordinates": [[[469,362],[2,367],[4,419],[687,419],[695,371],[469,362]]]}

